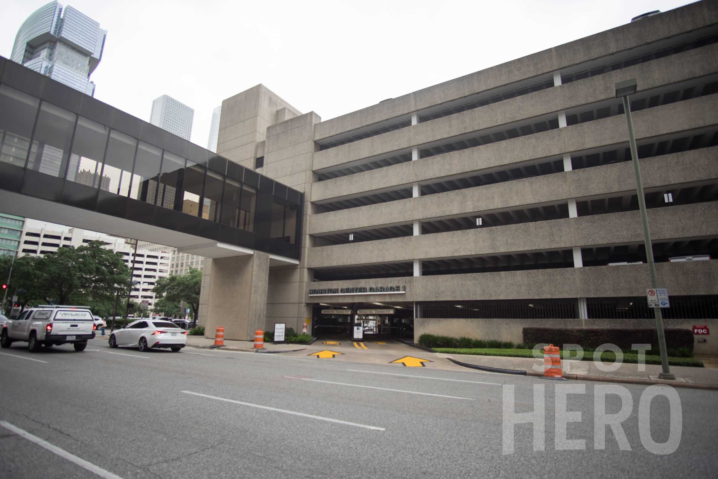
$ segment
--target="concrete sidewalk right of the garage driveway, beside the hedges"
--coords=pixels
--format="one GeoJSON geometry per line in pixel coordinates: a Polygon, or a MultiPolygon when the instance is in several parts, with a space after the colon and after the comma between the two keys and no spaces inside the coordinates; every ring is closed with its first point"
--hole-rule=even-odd
{"type": "MultiPolygon", "coordinates": [[[[442,354],[442,358],[451,358],[455,361],[468,363],[476,366],[488,366],[490,368],[512,369],[515,371],[526,371],[528,376],[543,376],[544,363],[541,360],[528,358],[504,358],[500,356],[480,356],[470,354],[442,354]],[[532,366],[536,368],[532,368],[532,366]]],[[[702,359],[702,358],[701,358],[702,359]]],[[[612,366],[605,363],[606,366],[612,366]]],[[[716,368],[691,368],[686,366],[671,366],[671,373],[676,376],[676,381],[664,381],[658,379],[661,366],[645,364],[644,371],[640,371],[639,364],[623,363],[616,371],[602,371],[593,361],[561,361],[564,377],[569,379],[583,379],[588,381],[607,381],[620,383],[637,384],[673,384],[682,387],[706,387],[706,389],[718,389],[718,369],[716,368]]]]}

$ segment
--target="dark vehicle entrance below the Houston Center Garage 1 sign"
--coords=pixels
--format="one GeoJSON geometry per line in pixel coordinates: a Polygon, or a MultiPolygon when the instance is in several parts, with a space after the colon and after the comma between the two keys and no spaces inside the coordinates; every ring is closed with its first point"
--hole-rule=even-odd
{"type": "Polygon", "coordinates": [[[414,338],[413,303],[321,303],[312,316],[313,335],[322,339],[350,339],[355,327],[364,340],[414,338]]]}

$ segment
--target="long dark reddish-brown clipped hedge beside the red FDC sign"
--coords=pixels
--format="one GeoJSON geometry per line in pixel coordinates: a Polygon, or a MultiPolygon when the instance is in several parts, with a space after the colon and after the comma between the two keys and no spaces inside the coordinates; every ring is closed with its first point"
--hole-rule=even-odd
{"type": "MultiPolygon", "coordinates": [[[[666,346],[673,353],[684,355],[684,349],[693,352],[693,332],[687,329],[668,328],[666,346]]],[[[524,327],[523,342],[526,344],[551,343],[557,346],[579,344],[586,349],[595,349],[605,343],[612,343],[621,350],[630,350],[632,344],[650,344],[658,354],[656,329],[564,329],[560,327],[524,327]]],[[[670,353],[669,353],[670,355],[670,353]]]]}

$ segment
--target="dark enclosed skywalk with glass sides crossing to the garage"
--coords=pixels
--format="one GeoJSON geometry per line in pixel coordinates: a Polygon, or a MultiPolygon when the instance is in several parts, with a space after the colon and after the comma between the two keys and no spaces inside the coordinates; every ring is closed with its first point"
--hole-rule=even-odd
{"type": "MultiPolygon", "coordinates": [[[[0,62],[0,70],[6,65],[0,62]]],[[[302,193],[25,73],[41,80],[37,93],[0,83],[0,193],[299,259],[302,193]],[[43,101],[45,85],[52,95],[43,101]],[[65,96],[79,106],[63,108],[65,96]]]]}

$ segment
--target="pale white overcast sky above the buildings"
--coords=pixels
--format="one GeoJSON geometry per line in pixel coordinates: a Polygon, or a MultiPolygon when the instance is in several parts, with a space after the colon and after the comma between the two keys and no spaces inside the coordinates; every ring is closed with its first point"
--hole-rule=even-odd
{"type": "MultiPolygon", "coordinates": [[[[5,0],[0,55],[45,1],[5,0]]],[[[263,83],[302,113],[334,118],[666,11],[681,0],[60,1],[108,30],[95,98],[149,121],[161,95],[212,110],[263,83]]]]}

